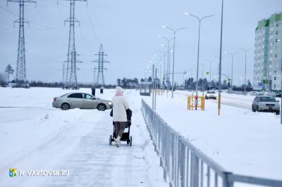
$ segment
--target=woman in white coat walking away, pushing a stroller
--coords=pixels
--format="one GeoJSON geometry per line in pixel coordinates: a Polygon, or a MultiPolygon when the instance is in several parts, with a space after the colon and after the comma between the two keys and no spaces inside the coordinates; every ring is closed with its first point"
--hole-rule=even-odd
{"type": "Polygon", "coordinates": [[[121,146],[121,137],[123,136],[123,131],[128,124],[128,119],[126,116],[126,110],[129,108],[128,102],[123,96],[123,89],[120,86],[116,86],[116,94],[112,98],[113,102],[113,121],[116,127],[116,136],[114,141],[116,146],[121,146]]]}

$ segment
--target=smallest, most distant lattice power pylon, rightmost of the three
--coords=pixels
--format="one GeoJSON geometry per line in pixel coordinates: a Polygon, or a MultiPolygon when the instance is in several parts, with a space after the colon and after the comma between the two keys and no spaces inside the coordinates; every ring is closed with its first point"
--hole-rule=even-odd
{"type": "Polygon", "coordinates": [[[96,82],[94,82],[94,84],[96,86],[104,86],[105,85],[104,70],[106,70],[106,68],[104,68],[104,63],[110,63],[110,62],[107,60],[104,60],[104,56],[108,56],[108,55],[104,53],[102,44],[100,44],[99,52],[95,54],[95,56],[99,56],[99,58],[98,60],[92,61],[92,62],[98,63],[97,79],[96,79],[96,82]]]}

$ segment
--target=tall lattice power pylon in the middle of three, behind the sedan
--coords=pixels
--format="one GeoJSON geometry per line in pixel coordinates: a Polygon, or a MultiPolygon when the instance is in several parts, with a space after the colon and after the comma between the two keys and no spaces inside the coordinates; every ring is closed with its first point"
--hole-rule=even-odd
{"type": "Polygon", "coordinates": [[[66,0],[70,1],[70,18],[65,20],[66,22],[70,23],[70,31],[68,36],[68,60],[67,60],[67,67],[66,67],[66,82],[65,87],[78,89],[78,79],[76,76],[76,63],[82,63],[81,61],[77,60],[76,57],[79,54],[75,51],[75,22],[79,22],[75,18],[75,1],[87,1],[87,0],[66,0]]]}

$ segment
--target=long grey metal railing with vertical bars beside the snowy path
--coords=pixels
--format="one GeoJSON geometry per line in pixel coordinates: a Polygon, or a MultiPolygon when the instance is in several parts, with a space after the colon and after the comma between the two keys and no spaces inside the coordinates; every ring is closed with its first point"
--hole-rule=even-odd
{"type": "Polygon", "coordinates": [[[154,150],[160,157],[164,179],[168,178],[169,186],[233,187],[234,183],[249,183],[282,187],[282,181],[233,174],[223,169],[190,141],[180,136],[144,100],[142,113],[154,150]]]}

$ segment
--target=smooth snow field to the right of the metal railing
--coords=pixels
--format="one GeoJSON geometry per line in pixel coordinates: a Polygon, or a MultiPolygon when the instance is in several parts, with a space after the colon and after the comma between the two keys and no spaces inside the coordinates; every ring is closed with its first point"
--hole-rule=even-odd
{"type": "MultiPolygon", "coordinates": [[[[282,125],[280,115],[252,112],[255,96],[223,93],[221,115],[217,102],[206,110],[187,109],[186,91],[157,95],[157,112],[181,135],[235,174],[282,179],[282,125]],[[225,103],[226,102],[226,103],[225,103]],[[236,107],[234,107],[236,106],[236,107]]],[[[152,105],[152,98],[145,101],[152,105]]]]}

